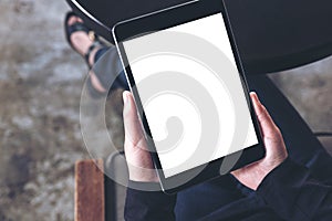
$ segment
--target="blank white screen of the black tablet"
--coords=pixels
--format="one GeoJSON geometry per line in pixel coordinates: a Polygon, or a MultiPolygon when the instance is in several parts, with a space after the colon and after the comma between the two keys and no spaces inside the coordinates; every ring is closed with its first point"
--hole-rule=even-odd
{"type": "MultiPolygon", "coordinates": [[[[176,50],[187,46],[205,53],[201,41],[219,50],[236,70],[220,13],[123,43],[166,178],[258,144],[239,74],[216,71],[218,69],[205,62],[218,60],[209,57],[211,54],[206,54],[206,60],[201,61],[195,57],[195,53],[185,54],[176,50]],[[167,33],[172,36],[186,34],[188,39],[174,41],[165,38],[167,33]],[[198,43],[195,43],[196,40],[198,43]],[[148,54],[137,57],[142,48],[158,44],[162,50],[157,46],[155,51],[147,50],[148,54]],[[165,50],[166,44],[172,45],[169,50],[165,50]],[[196,103],[203,94],[208,94],[214,104],[208,99],[206,105],[201,105],[205,101],[196,103]],[[240,112],[241,116],[235,112],[239,105],[247,107],[240,112]],[[217,117],[212,113],[218,113],[217,117]],[[211,126],[210,131],[204,126],[209,117],[215,117],[208,120],[218,126],[211,126]],[[237,127],[246,127],[246,133],[236,134],[237,127]],[[206,137],[209,135],[211,137],[206,137]],[[241,145],[232,145],[238,139],[243,140],[241,145]]],[[[220,65],[224,63],[220,62],[220,65]]]]}

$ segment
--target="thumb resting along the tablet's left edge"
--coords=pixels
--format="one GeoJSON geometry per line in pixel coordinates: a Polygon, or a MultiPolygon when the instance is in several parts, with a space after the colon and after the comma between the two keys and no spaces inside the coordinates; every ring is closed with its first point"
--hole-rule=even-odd
{"type": "Polygon", "coordinates": [[[123,93],[124,101],[124,127],[125,127],[125,137],[129,139],[131,143],[136,145],[143,138],[143,130],[141,126],[139,118],[137,116],[137,110],[135,106],[134,98],[129,92],[123,93]]]}

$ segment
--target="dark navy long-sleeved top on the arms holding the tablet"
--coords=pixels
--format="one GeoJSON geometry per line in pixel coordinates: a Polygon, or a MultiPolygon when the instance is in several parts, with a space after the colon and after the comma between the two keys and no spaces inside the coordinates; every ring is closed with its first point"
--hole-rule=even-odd
{"type": "MultiPolygon", "coordinates": [[[[197,199],[199,200],[199,199],[197,199]]],[[[175,220],[176,196],[127,190],[126,220],[175,220]]],[[[198,220],[332,220],[332,188],[287,159],[270,172],[256,194],[215,209],[198,220]]]]}

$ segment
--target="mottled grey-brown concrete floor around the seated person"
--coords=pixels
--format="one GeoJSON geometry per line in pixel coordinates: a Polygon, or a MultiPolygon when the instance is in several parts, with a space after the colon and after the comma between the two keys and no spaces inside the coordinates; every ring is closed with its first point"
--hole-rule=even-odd
{"type": "MultiPolygon", "coordinates": [[[[64,1],[0,1],[3,221],[74,219],[74,162],[90,156],[80,129],[86,65],[65,42],[63,17],[68,10],[64,1]]],[[[331,72],[332,57],[328,57],[271,75],[314,131],[332,131],[331,72]]],[[[114,99],[118,102],[118,97],[114,99]]],[[[121,146],[116,108],[107,107],[112,119],[107,125],[115,146],[121,146]]],[[[323,141],[331,151],[331,139],[323,141]]],[[[105,147],[102,154],[108,151],[105,147]]]]}

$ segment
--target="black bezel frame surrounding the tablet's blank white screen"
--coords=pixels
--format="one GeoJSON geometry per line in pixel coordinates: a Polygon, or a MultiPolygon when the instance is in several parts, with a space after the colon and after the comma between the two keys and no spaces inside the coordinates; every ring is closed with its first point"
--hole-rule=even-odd
{"type": "Polygon", "coordinates": [[[201,1],[193,1],[185,4],[180,4],[177,7],[173,7],[169,9],[165,9],[163,11],[154,12],[151,14],[146,14],[143,17],[134,18],[131,20],[126,20],[123,22],[120,22],[114,25],[112,29],[113,38],[116,42],[116,46],[120,53],[120,56],[122,59],[123,65],[125,66],[125,74],[127,77],[127,81],[129,82],[129,87],[133,93],[133,96],[136,102],[136,106],[139,113],[139,117],[142,119],[145,133],[146,133],[146,139],[148,143],[148,148],[152,154],[152,158],[155,165],[155,168],[157,170],[157,173],[160,179],[162,189],[166,193],[174,193],[179,190],[183,190],[187,187],[194,186],[196,183],[206,181],[208,179],[212,179],[215,177],[220,176],[220,166],[222,165],[222,161],[227,158],[231,158],[232,156],[237,155],[238,152],[242,151],[241,157],[238,159],[237,164],[231,168],[230,171],[236,170],[238,168],[241,168],[246,165],[249,165],[251,162],[255,162],[266,155],[266,149],[262,141],[262,136],[260,131],[260,127],[257,120],[257,116],[253,110],[253,106],[251,104],[251,99],[249,98],[249,90],[248,85],[243,75],[243,67],[240,61],[239,52],[235,43],[235,38],[230,29],[230,22],[227,15],[226,10],[221,10],[225,8],[224,2],[218,1],[210,1],[210,0],[201,0],[201,1]],[[224,13],[222,13],[224,12],[224,13]],[[258,138],[258,144],[253,145],[251,147],[247,147],[238,152],[221,157],[219,159],[212,160],[210,162],[207,162],[205,165],[198,166],[196,168],[189,169],[187,171],[180,172],[178,175],[172,176],[169,178],[165,178],[164,172],[162,171],[162,164],[159,161],[159,157],[156,152],[156,147],[152,138],[152,133],[145,116],[145,112],[139,98],[139,94],[137,92],[137,88],[135,87],[135,81],[133,77],[133,73],[131,70],[131,65],[128,63],[123,43],[124,41],[127,41],[129,39],[135,39],[137,36],[145,35],[146,33],[153,33],[157,31],[162,31],[172,27],[176,27],[183,23],[187,23],[190,21],[198,20],[200,18],[206,18],[212,14],[220,13],[220,15],[224,17],[225,25],[228,32],[228,38],[230,40],[231,49],[235,55],[237,69],[240,75],[241,84],[243,87],[245,96],[247,99],[247,103],[249,105],[250,115],[253,122],[255,131],[258,138]],[[169,18],[176,18],[176,20],[169,18]],[[194,179],[189,180],[186,183],[181,183],[180,186],[176,186],[178,180],[184,180],[187,177],[190,177],[191,175],[196,175],[194,179]],[[175,186],[175,187],[174,187],[175,186]]]}

